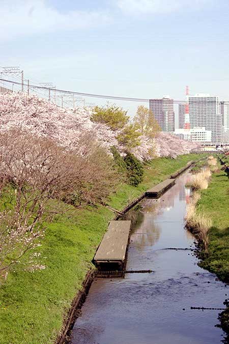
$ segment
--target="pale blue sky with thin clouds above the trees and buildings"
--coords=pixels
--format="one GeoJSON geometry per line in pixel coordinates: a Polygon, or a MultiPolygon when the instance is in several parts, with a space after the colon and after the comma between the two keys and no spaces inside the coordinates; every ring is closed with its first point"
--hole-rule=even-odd
{"type": "MultiPolygon", "coordinates": [[[[0,66],[36,82],[174,99],[189,85],[229,99],[228,0],[0,0],[0,12],[0,66]]],[[[130,115],[139,105],[117,103],[130,115]]]]}

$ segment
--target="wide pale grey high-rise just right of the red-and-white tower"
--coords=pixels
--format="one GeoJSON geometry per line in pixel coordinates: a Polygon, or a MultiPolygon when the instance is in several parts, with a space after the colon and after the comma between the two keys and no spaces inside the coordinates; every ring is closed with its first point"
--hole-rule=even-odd
{"type": "Polygon", "coordinates": [[[209,94],[189,96],[189,116],[191,128],[205,127],[212,132],[212,143],[221,143],[222,116],[218,96],[209,94]]]}

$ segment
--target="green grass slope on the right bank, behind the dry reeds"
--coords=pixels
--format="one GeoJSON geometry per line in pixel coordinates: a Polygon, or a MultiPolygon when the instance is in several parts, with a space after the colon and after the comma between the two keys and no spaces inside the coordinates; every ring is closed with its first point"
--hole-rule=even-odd
{"type": "Polygon", "coordinates": [[[201,265],[229,282],[229,181],[220,171],[212,175],[207,190],[201,193],[197,210],[213,220],[210,231],[208,254],[203,256],[201,265]]]}

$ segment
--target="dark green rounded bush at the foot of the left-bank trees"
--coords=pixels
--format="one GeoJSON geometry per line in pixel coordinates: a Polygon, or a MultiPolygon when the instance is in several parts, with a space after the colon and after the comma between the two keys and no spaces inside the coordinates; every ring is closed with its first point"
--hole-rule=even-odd
{"type": "Polygon", "coordinates": [[[137,186],[143,180],[144,168],[142,163],[129,152],[124,158],[127,169],[127,178],[130,185],[137,186]]]}

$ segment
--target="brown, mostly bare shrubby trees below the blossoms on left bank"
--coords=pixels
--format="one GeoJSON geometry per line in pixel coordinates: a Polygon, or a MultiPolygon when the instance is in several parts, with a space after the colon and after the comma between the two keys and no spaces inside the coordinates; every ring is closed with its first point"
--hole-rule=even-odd
{"type": "Polygon", "coordinates": [[[68,210],[56,200],[74,206],[95,204],[118,185],[117,171],[104,149],[87,135],[81,144],[86,156],[20,129],[0,135],[0,274],[25,254],[26,269],[45,268],[34,250],[45,234],[45,222],[68,210]]]}

